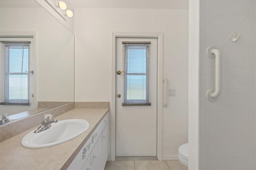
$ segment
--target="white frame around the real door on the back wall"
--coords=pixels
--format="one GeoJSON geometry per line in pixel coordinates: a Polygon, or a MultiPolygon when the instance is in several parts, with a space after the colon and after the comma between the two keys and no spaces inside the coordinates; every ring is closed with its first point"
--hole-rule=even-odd
{"type": "Polygon", "coordinates": [[[112,32],[111,34],[111,100],[110,160],[116,158],[116,38],[157,38],[157,158],[163,157],[163,33],[112,32]]]}

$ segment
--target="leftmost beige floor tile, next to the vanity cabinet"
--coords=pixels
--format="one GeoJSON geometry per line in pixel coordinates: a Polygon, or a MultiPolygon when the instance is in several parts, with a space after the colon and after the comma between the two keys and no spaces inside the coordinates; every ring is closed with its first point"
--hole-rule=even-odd
{"type": "Polygon", "coordinates": [[[134,160],[107,161],[104,170],[134,170],[134,160]]]}

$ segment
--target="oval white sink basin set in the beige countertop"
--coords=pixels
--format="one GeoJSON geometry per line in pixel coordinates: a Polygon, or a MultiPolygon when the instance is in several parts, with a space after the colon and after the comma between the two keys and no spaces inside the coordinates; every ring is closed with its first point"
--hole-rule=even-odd
{"type": "Polygon", "coordinates": [[[34,133],[35,129],[26,134],[21,144],[28,148],[42,148],[69,141],[86,131],[88,121],[84,119],[67,119],[52,123],[52,126],[42,132],[34,133]]]}

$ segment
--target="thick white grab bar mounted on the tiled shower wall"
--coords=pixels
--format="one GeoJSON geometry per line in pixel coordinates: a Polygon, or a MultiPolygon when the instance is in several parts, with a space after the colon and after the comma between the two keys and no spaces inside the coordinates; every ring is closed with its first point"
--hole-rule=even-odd
{"type": "Polygon", "coordinates": [[[221,53],[217,47],[210,46],[206,50],[208,57],[215,57],[215,90],[207,92],[207,98],[210,101],[215,101],[221,93],[221,53]]]}

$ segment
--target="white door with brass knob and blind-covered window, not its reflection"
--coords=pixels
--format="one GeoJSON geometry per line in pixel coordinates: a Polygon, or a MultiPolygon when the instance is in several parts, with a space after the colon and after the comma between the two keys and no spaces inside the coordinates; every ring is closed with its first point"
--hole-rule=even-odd
{"type": "Polygon", "coordinates": [[[116,74],[116,156],[157,156],[157,38],[117,38],[118,70],[121,74],[116,74]],[[144,53],[149,42],[151,49],[146,52],[146,58],[137,59],[137,52],[144,53]],[[125,49],[127,44],[146,45],[145,48],[131,45],[125,49]],[[141,77],[144,80],[137,82],[141,77]],[[141,101],[146,98],[149,101],[140,102],[140,95],[144,95],[141,101]]]}

